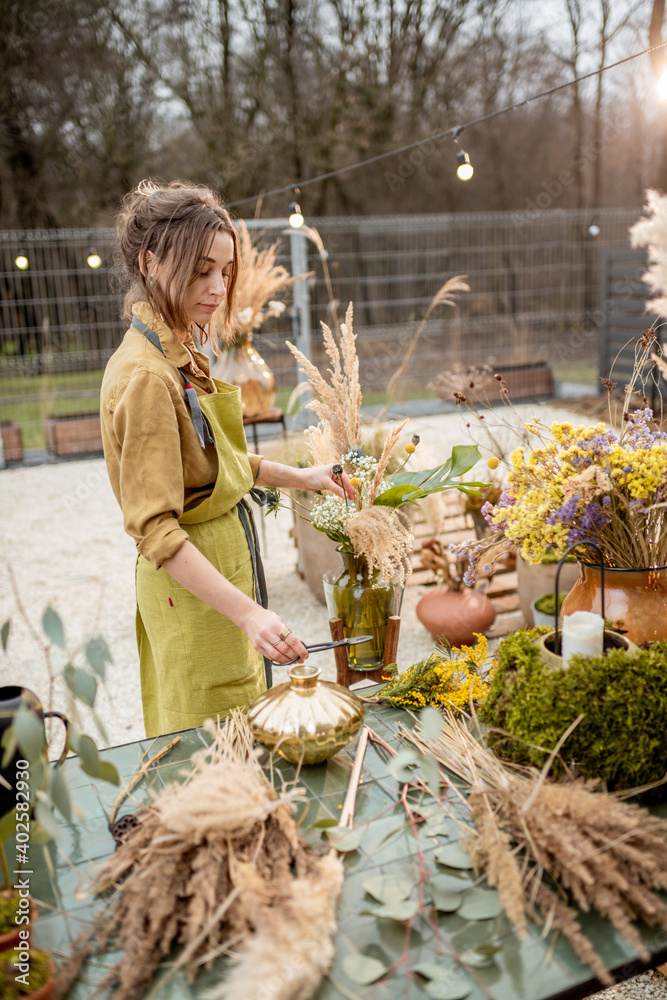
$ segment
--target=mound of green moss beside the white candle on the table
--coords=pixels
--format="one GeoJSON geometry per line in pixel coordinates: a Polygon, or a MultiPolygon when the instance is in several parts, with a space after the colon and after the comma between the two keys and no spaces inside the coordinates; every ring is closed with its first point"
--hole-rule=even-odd
{"type": "MultiPolygon", "coordinates": [[[[610,788],[657,781],[667,772],[667,643],[631,654],[575,656],[567,670],[548,668],[535,630],[508,636],[480,718],[501,757],[541,767],[568,726],[583,715],[561,754],[585,777],[610,788]]],[[[563,773],[555,761],[553,772],[563,773]]]]}

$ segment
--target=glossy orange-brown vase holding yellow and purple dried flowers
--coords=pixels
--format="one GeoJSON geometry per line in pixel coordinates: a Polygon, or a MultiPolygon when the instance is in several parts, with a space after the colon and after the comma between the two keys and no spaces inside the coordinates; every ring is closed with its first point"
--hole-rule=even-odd
{"type": "MultiPolygon", "coordinates": [[[[602,612],[600,569],[579,563],[579,578],[563,601],[561,614],[574,611],[602,612]]],[[[631,642],[667,639],[667,566],[655,569],[607,569],[604,571],[604,614],[612,622],[623,622],[631,642]]]]}

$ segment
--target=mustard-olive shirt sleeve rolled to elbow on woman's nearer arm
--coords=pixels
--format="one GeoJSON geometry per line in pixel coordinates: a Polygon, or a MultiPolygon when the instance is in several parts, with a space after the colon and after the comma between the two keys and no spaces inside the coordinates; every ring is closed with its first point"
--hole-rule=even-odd
{"type": "Polygon", "coordinates": [[[183,513],[184,484],[174,402],[164,379],[138,370],[113,415],[125,530],[156,569],[188,539],[178,523],[183,513]]]}

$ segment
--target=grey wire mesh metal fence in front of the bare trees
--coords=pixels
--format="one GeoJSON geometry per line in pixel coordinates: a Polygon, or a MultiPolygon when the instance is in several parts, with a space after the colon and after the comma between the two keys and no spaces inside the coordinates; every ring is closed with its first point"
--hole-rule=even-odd
{"type": "MultiPolygon", "coordinates": [[[[628,246],[639,209],[543,211],[313,220],[328,252],[338,313],[354,302],[361,379],[382,396],[435,292],[453,275],[471,287],[432,313],[401,384],[435,395],[440,372],[540,360],[556,378],[597,377],[601,253],[628,246]],[[597,230],[597,232],[596,232],[597,230]]],[[[286,339],[324,360],[320,321],[331,309],[316,248],[285,235],[284,220],[251,224],[260,244],[281,241],[279,262],[314,276],[257,337],[279,387],[297,380],[286,339]],[[295,257],[295,250],[297,251],[295,257]],[[305,341],[304,341],[305,337],[305,341]]],[[[104,365],[120,342],[111,230],[0,233],[0,420],[20,425],[24,446],[43,445],[48,416],[94,411],[104,365]],[[96,263],[94,255],[101,258],[96,263]],[[20,260],[23,257],[24,260],[20,260]],[[27,266],[21,269],[17,260],[27,266]]],[[[399,397],[400,398],[400,397],[399,397]]]]}

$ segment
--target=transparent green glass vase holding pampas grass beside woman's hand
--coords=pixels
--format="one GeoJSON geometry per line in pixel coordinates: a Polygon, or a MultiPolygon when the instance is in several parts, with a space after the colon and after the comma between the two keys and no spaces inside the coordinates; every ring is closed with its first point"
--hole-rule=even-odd
{"type": "Polygon", "coordinates": [[[387,638],[387,619],[401,613],[403,585],[369,573],[368,563],[356,552],[338,550],[343,566],[327,570],[322,577],[330,618],[340,618],[346,639],[372,635],[369,642],[348,648],[352,670],[376,670],[382,666],[387,638]]]}

